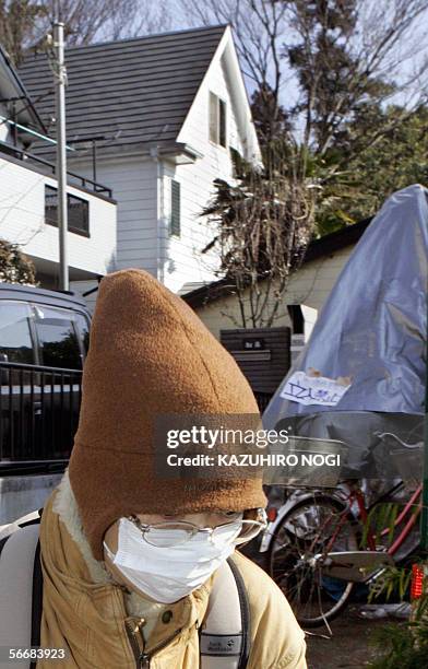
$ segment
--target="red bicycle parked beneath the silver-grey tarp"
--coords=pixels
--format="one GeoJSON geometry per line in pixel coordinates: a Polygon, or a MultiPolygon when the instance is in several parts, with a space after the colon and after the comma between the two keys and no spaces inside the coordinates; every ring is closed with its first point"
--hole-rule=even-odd
{"type": "Polygon", "coordinates": [[[404,485],[396,483],[366,506],[359,482],[343,481],[334,490],[301,491],[288,507],[273,531],[268,564],[301,625],[328,625],[356,583],[371,583],[418,545],[420,484],[387,526],[374,527],[376,510],[404,485]]]}

